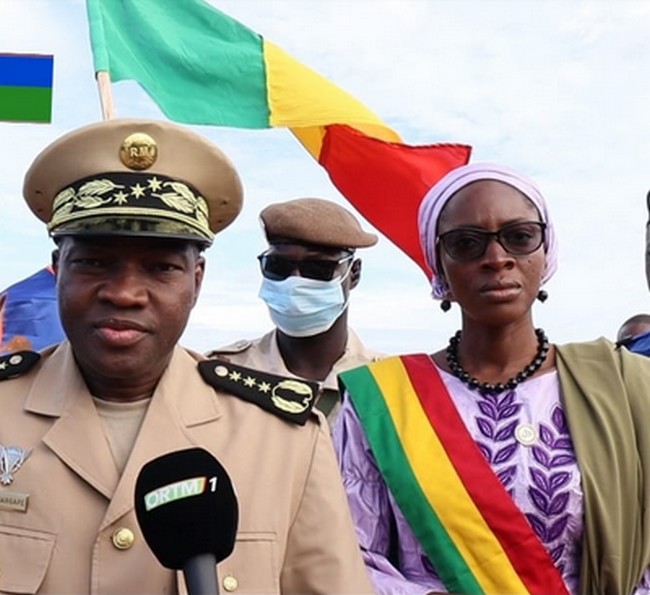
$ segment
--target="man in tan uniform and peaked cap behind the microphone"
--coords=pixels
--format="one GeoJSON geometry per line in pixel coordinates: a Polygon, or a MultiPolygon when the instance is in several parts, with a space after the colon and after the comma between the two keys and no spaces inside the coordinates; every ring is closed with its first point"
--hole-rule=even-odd
{"type": "Polygon", "coordinates": [[[239,501],[222,591],[370,593],[315,386],[177,344],[203,251],[241,208],[225,155],[170,123],[112,120],[47,147],[24,195],[56,244],[67,340],[0,358],[0,592],[185,592],[144,540],[134,485],[200,446],[239,501]]]}

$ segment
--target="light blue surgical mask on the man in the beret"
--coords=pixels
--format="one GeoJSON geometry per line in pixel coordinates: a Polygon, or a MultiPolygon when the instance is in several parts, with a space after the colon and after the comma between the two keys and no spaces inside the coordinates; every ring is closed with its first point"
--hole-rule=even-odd
{"type": "Polygon", "coordinates": [[[319,281],[291,275],[282,281],[262,279],[260,298],[269,308],[271,320],[285,335],[312,337],[328,331],[348,305],[343,277],[319,281]]]}

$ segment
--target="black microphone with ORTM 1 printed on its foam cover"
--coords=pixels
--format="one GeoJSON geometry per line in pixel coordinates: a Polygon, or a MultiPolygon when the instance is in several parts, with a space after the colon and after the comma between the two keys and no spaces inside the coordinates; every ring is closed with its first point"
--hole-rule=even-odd
{"type": "Polygon", "coordinates": [[[135,514],[158,561],[183,570],[190,595],[216,595],[217,562],[235,547],[239,506],[228,473],[207,450],[149,461],[135,483],[135,514]]]}

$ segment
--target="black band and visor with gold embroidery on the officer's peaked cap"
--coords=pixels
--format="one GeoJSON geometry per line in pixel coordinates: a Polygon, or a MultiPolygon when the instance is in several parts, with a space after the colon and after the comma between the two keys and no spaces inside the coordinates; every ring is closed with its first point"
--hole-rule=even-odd
{"type": "Polygon", "coordinates": [[[206,200],[166,176],[104,173],[61,190],[47,225],[52,236],[115,233],[211,243],[206,200]]]}

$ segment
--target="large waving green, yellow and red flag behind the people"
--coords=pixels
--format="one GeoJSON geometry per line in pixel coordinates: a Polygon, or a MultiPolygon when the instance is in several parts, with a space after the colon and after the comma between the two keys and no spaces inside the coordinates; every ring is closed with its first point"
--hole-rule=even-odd
{"type": "Polygon", "coordinates": [[[417,210],[470,147],[412,147],[318,73],[203,0],[87,0],[97,72],[135,80],[171,120],[286,127],[377,229],[427,274],[417,210]]]}

